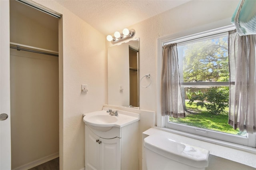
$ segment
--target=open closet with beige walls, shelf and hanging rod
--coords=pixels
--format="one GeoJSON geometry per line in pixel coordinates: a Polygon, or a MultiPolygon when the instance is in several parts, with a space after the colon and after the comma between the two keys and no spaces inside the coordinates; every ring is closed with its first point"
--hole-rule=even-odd
{"type": "Polygon", "coordinates": [[[10,0],[12,170],[59,169],[58,27],[58,18],[10,0]]]}

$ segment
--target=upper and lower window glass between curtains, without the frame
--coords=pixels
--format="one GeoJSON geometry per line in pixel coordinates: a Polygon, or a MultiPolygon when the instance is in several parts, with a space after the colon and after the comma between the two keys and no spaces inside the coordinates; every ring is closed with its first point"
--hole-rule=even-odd
{"type": "Polygon", "coordinates": [[[229,81],[228,37],[203,38],[180,45],[178,57],[180,82],[186,82],[181,87],[186,117],[170,117],[170,121],[246,136],[246,132],[228,125],[229,87],[216,85],[229,81]]]}

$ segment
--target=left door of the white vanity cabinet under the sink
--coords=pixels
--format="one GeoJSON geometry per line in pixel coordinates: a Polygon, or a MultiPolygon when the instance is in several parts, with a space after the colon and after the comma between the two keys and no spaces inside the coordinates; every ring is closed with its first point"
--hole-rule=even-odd
{"type": "Polygon", "coordinates": [[[99,140],[87,126],[85,126],[85,169],[86,170],[100,170],[100,144],[96,142],[99,140]]]}

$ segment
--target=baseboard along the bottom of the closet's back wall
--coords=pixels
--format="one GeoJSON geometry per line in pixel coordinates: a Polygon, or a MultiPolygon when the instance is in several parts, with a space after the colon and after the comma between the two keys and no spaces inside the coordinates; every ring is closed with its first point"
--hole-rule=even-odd
{"type": "Polygon", "coordinates": [[[40,158],[38,160],[35,160],[33,162],[30,162],[28,164],[25,164],[25,165],[22,165],[22,166],[19,166],[18,168],[14,168],[12,170],[28,170],[30,168],[33,168],[35,166],[38,166],[40,164],[43,164],[45,162],[48,162],[50,160],[53,160],[55,158],[58,158],[59,157],[59,152],[55,153],[55,154],[51,154],[49,156],[45,156],[43,158],[40,158]]]}

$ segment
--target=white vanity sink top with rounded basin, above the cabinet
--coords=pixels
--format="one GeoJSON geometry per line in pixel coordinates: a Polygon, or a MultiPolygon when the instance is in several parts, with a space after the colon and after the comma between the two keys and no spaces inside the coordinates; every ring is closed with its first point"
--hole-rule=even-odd
{"type": "Polygon", "coordinates": [[[102,111],[85,114],[84,123],[96,130],[107,131],[112,127],[121,128],[140,120],[140,115],[136,113],[118,111],[118,116],[112,116],[107,110],[108,108],[104,107],[102,111]]]}

